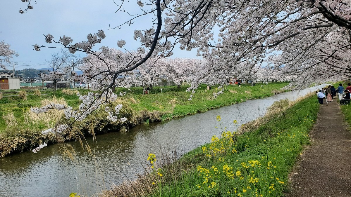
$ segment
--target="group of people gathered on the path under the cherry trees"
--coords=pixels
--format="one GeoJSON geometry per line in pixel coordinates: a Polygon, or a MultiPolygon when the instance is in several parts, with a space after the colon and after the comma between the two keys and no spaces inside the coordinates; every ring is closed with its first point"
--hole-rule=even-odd
{"type": "Polygon", "coordinates": [[[328,86],[328,88],[322,88],[322,90],[316,91],[318,102],[323,104],[323,100],[326,99],[327,102],[332,102],[333,97],[338,94],[340,104],[345,104],[345,101],[350,101],[351,99],[351,83],[347,84],[346,89],[344,89],[343,84],[339,84],[339,87],[335,89],[333,85],[328,86]]]}

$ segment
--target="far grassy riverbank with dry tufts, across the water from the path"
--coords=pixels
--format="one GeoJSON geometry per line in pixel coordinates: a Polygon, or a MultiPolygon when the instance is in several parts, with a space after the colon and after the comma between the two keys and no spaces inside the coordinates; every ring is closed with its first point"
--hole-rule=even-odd
{"type": "MultiPolygon", "coordinates": [[[[114,103],[116,105],[123,104],[120,116],[127,117],[125,123],[110,122],[107,120],[107,113],[101,108],[88,116],[84,121],[75,122],[70,130],[59,136],[42,135],[41,131],[57,123],[69,124],[70,120],[65,120],[62,117],[62,112],[51,110],[51,112],[49,111],[44,115],[37,115],[28,112],[28,110],[30,107],[41,106],[48,102],[67,103],[70,106],[77,107],[79,106],[77,96],[59,92],[57,95],[62,96],[62,99],[55,99],[53,97],[50,99],[52,95],[45,95],[39,102],[32,96],[27,96],[28,102],[22,101],[16,97],[6,97],[6,102],[0,100],[0,102],[3,103],[2,106],[9,106],[6,110],[1,108],[2,115],[7,115],[6,117],[9,118],[6,120],[6,130],[2,131],[0,137],[0,154],[4,157],[13,152],[21,152],[26,149],[37,147],[39,143],[49,140],[51,143],[73,140],[80,132],[88,136],[91,135],[92,130],[97,134],[119,130],[126,131],[128,128],[134,127],[137,124],[164,121],[174,117],[195,114],[209,109],[243,102],[249,99],[271,96],[282,92],[280,89],[284,86],[286,86],[286,83],[269,83],[263,87],[259,85],[254,87],[242,86],[240,88],[237,86],[229,86],[217,99],[212,97],[212,92],[215,88],[208,91],[203,87],[194,94],[191,101],[188,101],[190,94],[185,92],[186,87],[168,87],[168,89],[163,90],[162,94],[150,95],[140,95],[138,92],[140,91],[139,89],[131,88],[131,92],[114,103]],[[8,101],[8,99],[11,100],[8,101]],[[11,113],[5,114],[4,111],[11,113]]],[[[155,92],[158,90],[160,90],[160,88],[153,88],[155,92]]],[[[122,89],[117,91],[122,91],[122,89]]],[[[3,122],[5,122],[4,119],[5,118],[2,118],[3,122]]]]}

